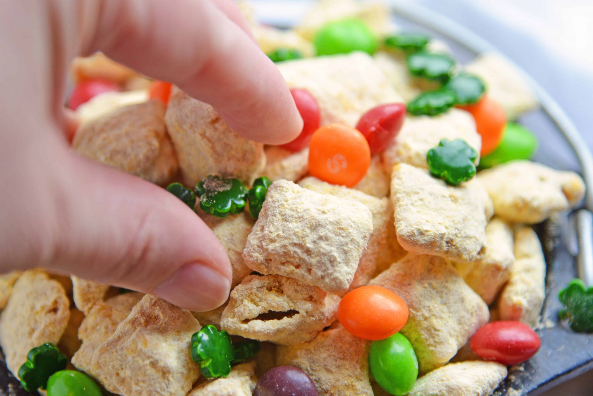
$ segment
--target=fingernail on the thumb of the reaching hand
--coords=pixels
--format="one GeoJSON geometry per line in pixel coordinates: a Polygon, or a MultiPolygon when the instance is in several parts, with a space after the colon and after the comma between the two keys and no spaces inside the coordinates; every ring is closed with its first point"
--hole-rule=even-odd
{"type": "Polygon", "coordinates": [[[231,284],[201,263],[186,264],[158,285],[152,294],[190,311],[209,311],[227,301],[231,284]]]}

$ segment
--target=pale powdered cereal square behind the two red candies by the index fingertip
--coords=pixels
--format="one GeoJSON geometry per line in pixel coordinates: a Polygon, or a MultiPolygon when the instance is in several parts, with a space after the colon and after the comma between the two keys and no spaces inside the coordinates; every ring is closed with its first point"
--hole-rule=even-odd
{"type": "Polygon", "coordinates": [[[321,125],[355,126],[365,111],[402,101],[364,52],[287,60],[278,63],[278,69],[289,87],[304,88],[317,100],[321,125]]]}

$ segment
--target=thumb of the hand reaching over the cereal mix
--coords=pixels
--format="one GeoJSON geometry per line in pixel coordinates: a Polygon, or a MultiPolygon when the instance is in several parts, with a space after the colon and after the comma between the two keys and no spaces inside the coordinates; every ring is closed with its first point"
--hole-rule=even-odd
{"type": "Polygon", "coordinates": [[[54,270],[151,293],[192,311],[223,304],[231,265],[212,231],[176,196],[141,178],[68,156],[54,270]]]}

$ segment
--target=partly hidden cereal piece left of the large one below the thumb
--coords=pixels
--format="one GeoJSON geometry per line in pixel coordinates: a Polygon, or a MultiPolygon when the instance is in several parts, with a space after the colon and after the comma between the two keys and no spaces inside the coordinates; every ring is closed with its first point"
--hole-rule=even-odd
{"type": "Polygon", "coordinates": [[[95,376],[91,371],[95,350],[115,333],[117,325],[127,318],[143,296],[142,293],[124,293],[93,306],[78,328],[82,345],[72,357],[72,364],[77,369],[95,376]]]}

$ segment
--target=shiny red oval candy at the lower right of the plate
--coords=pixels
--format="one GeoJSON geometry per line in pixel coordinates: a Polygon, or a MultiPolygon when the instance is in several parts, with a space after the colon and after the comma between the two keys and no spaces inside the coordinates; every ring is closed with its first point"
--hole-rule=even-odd
{"type": "Polygon", "coordinates": [[[470,339],[471,349],[484,360],[511,366],[525,362],[540,349],[540,337],[517,321],[492,322],[479,328],[470,339]]]}

